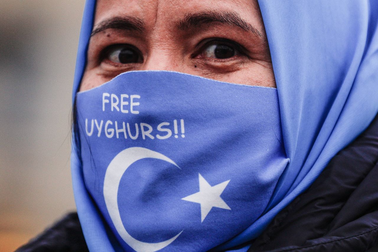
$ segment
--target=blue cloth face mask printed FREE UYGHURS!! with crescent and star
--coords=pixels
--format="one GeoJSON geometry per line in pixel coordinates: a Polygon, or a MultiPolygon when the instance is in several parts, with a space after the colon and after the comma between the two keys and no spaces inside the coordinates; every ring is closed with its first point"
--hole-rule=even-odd
{"type": "Polygon", "coordinates": [[[166,71],[77,93],[85,186],[126,251],[206,251],[251,226],[288,159],[277,90],[166,71]]]}

